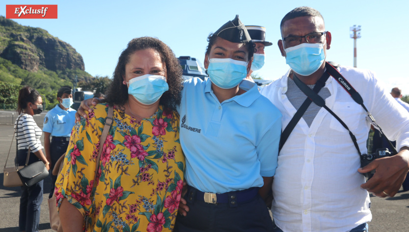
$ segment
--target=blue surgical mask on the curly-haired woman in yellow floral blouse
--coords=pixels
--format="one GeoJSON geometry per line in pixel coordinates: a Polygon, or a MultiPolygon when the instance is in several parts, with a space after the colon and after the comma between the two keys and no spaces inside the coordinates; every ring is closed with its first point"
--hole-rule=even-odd
{"type": "Polygon", "coordinates": [[[159,75],[146,74],[132,78],[127,83],[128,93],[144,105],[152,105],[169,90],[166,78],[159,75]]]}

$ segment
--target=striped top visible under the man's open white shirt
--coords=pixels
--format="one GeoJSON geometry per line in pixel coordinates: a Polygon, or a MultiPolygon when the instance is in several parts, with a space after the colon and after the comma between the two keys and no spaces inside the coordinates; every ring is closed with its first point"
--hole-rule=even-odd
{"type": "MultiPolygon", "coordinates": [[[[315,85],[307,85],[310,89],[314,89],[315,85]]],[[[307,99],[307,95],[303,93],[300,88],[295,84],[295,82],[288,78],[287,81],[288,90],[285,92],[287,95],[288,100],[294,106],[296,110],[300,109],[301,105],[307,99]]],[[[322,97],[322,99],[327,99],[327,97],[331,96],[330,91],[327,87],[322,87],[320,92],[318,93],[322,97]]],[[[321,107],[317,106],[314,102],[308,106],[307,111],[303,115],[303,119],[307,122],[308,127],[311,126],[312,121],[314,120],[315,116],[317,116],[318,111],[320,111],[321,107]]]]}

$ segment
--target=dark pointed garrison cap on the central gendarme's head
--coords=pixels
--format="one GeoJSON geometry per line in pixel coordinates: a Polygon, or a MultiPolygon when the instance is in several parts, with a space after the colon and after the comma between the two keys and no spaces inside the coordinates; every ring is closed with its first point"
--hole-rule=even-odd
{"type": "Polygon", "coordinates": [[[244,24],[241,23],[238,15],[220,27],[214,32],[214,35],[233,43],[246,43],[251,40],[249,32],[247,32],[244,24]]]}

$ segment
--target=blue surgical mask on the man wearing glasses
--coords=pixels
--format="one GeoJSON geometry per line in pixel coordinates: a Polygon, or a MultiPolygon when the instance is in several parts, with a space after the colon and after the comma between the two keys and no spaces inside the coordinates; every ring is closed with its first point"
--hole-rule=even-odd
{"type": "Polygon", "coordinates": [[[325,61],[325,44],[300,44],[285,50],[286,63],[296,73],[309,76],[318,70],[325,61]]]}

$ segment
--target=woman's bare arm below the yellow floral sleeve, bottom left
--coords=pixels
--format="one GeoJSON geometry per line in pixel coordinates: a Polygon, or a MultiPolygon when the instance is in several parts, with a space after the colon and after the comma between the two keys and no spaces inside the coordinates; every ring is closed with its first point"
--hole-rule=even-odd
{"type": "Polygon", "coordinates": [[[73,204],[68,202],[67,198],[61,200],[59,215],[64,232],[82,231],[84,217],[73,204]]]}

